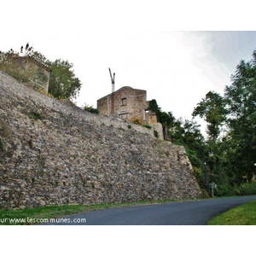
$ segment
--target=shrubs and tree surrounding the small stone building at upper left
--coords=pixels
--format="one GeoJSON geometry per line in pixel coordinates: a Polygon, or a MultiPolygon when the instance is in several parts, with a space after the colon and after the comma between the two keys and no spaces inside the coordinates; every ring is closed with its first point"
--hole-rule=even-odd
{"type": "Polygon", "coordinates": [[[24,72],[24,70],[15,68],[15,63],[13,61],[15,56],[26,56],[32,58],[51,69],[48,91],[50,95],[61,100],[71,100],[79,95],[82,83],[75,76],[73,64],[69,61],[61,59],[49,61],[44,55],[33,49],[33,47],[28,43],[25,47],[21,46],[19,52],[14,51],[13,49],[10,49],[8,52],[0,51],[0,69],[22,83],[28,83],[31,78],[43,81],[48,78],[46,78],[45,74],[42,73],[40,69],[31,68],[24,72]]]}

